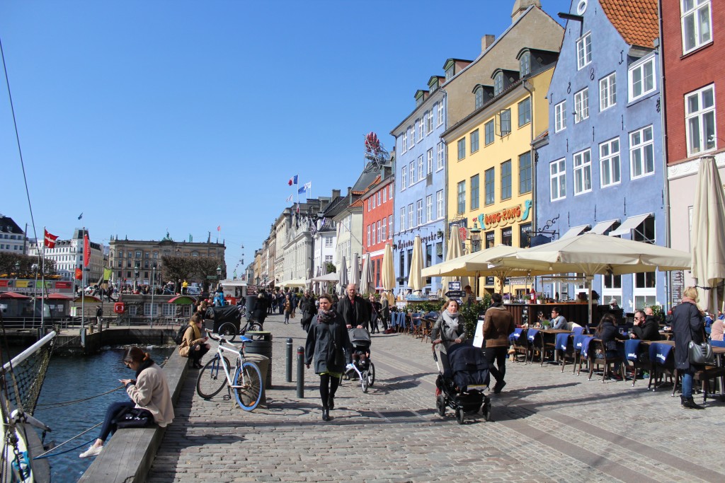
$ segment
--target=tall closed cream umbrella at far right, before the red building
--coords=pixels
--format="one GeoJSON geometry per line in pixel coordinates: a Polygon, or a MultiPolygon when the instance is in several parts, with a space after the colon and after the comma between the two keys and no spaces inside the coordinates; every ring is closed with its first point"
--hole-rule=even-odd
{"type": "Polygon", "coordinates": [[[692,278],[700,294],[700,307],[722,310],[725,279],[725,195],[713,156],[700,160],[695,205],[692,207],[692,278]],[[704,287],[708,287],[708,290],[704,287]]]}

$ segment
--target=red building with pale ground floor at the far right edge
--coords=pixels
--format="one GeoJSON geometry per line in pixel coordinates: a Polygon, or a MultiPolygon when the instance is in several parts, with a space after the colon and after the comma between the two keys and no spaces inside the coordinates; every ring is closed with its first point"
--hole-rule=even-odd
{"type": "MultiPolygon", "coordinates": [[[[668,235],[672,248],[689,251],[700,159],[713,156],[725,180],[725,70],[719,45],[725,42],[725,2],[660,0],[660,15],[668,235]]],[[[690,285],[687,272],[684,276],[684,285],[690,285]]]]}

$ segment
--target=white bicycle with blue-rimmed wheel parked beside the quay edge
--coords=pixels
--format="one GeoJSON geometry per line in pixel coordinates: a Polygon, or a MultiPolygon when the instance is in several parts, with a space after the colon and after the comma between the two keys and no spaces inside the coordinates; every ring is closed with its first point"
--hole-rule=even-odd
{"type": "Polygon", "coordinates": [[[242,336],[241,349],[236,350],[224,337],[215,337],[214,332],[210,329],[204,329],[204,331],[207,332],[210,339],[217,340],[219,345],[215,356],[199,371],[199,378],[196,379],[196,393],[208,400],[218,395],[226,385],[228,394],[224,396],[224,400],[231,399],[231,392],[233,392],[240,408],[244,411],[254,411],[262,400],[264,381],[259,366],[253,361],[247,361],[244,356],[244,343],[251,339],[242,336]],[[231,363],[223,355],[225,352],[236,354],[236,369],[233,379],[229,372],[231,363]]]}

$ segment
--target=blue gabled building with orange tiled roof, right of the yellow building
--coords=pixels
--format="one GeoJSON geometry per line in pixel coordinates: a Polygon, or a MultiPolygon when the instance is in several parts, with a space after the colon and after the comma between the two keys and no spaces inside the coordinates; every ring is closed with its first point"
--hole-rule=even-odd
{"type": "MultiPolygon", "coordinates": [[[[596,232],[665,245],[657,0],[573,0],[537,148],[537,232],[596,232]]],[[[595,277],[600,303],[666,303],[665,274],[595,277]]],[[[584,282],[544,283],[573,299],[584,282]]]]}

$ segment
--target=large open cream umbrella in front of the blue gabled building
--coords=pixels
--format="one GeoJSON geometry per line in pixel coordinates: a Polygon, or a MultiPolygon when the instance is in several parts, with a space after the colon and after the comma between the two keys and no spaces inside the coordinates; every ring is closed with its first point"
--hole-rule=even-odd
{"type": "Polygon", "coordinates": [[[595,274],[631,274],[655,269],[689,269],[689,253],[650,243],[584,233],[492,260],[492,269],[508,267],[540,272],[581,273],[587,277],[588,319],[592,323],[592,278],[595,274]]]}

